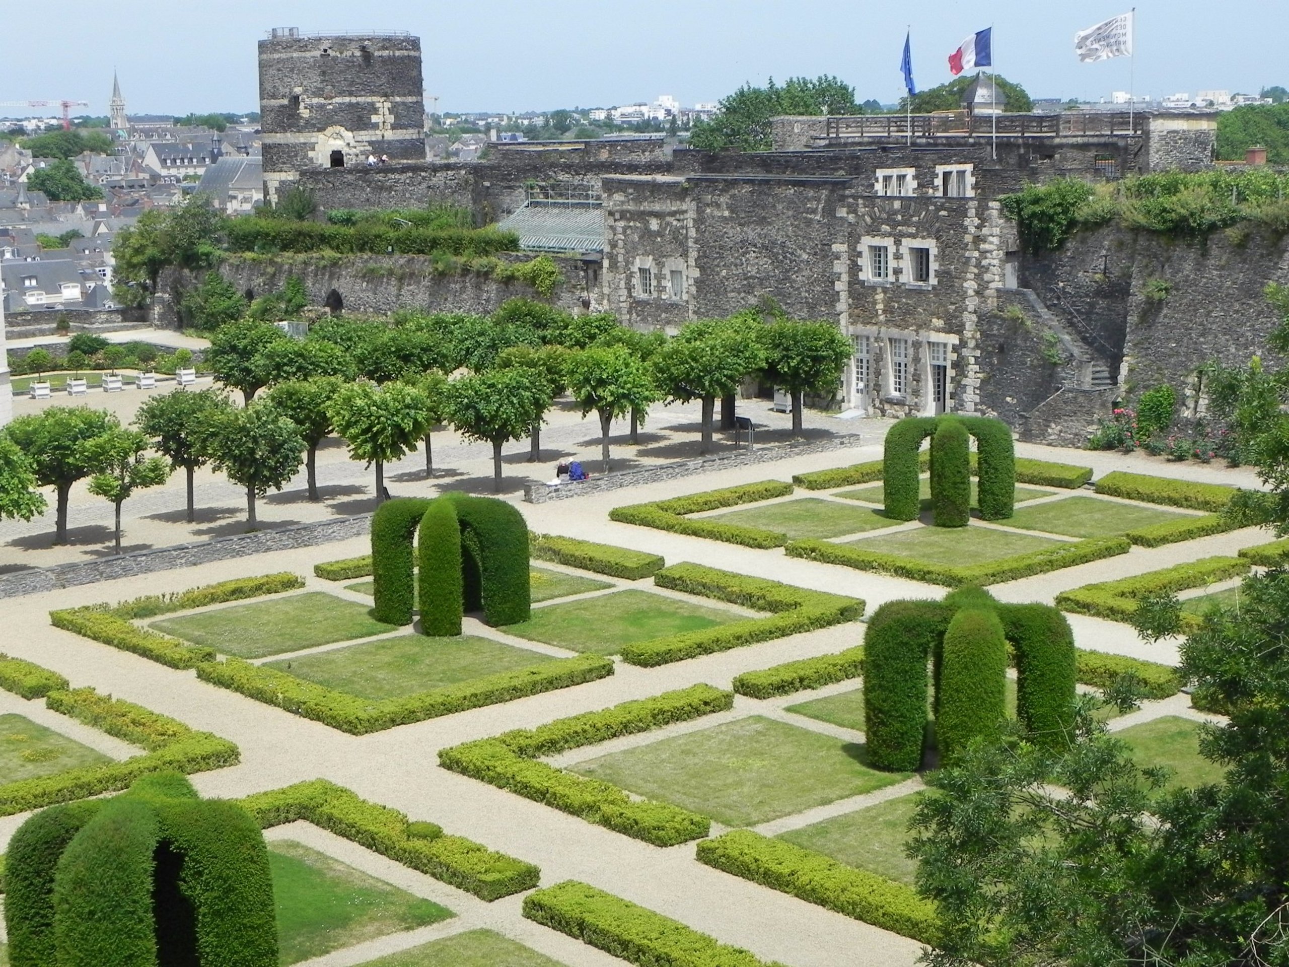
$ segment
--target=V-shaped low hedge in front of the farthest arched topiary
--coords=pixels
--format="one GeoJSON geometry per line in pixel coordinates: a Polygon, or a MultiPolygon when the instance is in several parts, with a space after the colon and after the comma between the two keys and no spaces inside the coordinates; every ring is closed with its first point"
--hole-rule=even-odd
{"type": "Polygon", "coordinates": [[[1027,554],[1016,554],[998,561],[953,567],[918,561],[898,554],[883,554],[877,551],[862,551],[857,547],[833,544],[826,540],[794,540],[784,548],[789,557],[802,557],[808,561],[853,567],[858,571],[889,574],[927,584],[942,584],[960,588],[965,584],[998,584],[1000,581],[1029,578],[1035,574],[1058,571],[1062,567],[1100,561],[1116,554],[1127,554],[1132,544],[1127,538],[1090,538],[1088,540],[1062,543],[1027,554]]]}

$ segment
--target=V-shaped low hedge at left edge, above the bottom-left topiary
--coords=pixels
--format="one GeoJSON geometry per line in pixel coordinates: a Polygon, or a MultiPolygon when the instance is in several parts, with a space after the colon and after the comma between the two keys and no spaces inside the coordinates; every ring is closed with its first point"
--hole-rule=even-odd
{"type": "MultiPolygon", "coordinates": [[[[9,659],[4,664],[12,672],[12,664],[15,661],[15,659],[9,659]]],[[[30,665],[27,661],[21,664],[30,665]]],[[[13,816],[59,802],[119,792],[148,772],[170,770],[205,772],[211,768],[236,766],[240,761],[237,747],[227,739],[220,739],[210,732],[199,732],[174,718],[150,712],[130,701],[99,695],[93,689],[45,690],[45,686],[59,676],[41,669],[39,665],[32,665],[32,668],[46,672],[48,677],[36,686],[36,674],[30,670],[24,672],[24,682],[32,685],[37,692],[24,698],[39,698],[43,694],[48,709],[84,722],[122,741],[142,745],[147,752],[124,762],[82,766],[52,776],[5,783],[0,785],[0,816],[13,816]]],[[[0,687],[8,690],[8,683],[0,682],[0,687]]]]}

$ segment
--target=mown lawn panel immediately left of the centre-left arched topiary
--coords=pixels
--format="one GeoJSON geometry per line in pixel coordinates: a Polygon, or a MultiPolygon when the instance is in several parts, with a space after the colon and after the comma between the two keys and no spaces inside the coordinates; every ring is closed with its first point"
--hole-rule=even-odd
{"type": "Polygon", "coordinates": [[[152,628],[224,655],[263,658],[396,630],[394,625],[375,620],[367,611],[354,601],[311,591],[165,618],[153,621],[152,628]]]}

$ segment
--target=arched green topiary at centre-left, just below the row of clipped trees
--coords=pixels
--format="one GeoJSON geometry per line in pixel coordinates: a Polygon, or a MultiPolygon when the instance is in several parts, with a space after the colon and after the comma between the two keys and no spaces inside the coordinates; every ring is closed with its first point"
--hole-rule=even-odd
{"type": "Polygon", "coordinates": [[[528,527],[504,500],[450,493],[433,500],[388,500],[371,521],[374,615],[391,624],[412,619],[412,535],[418,535],[420,630],[461,633],[465,611],[492,625],[530,612],[528,527]]]}

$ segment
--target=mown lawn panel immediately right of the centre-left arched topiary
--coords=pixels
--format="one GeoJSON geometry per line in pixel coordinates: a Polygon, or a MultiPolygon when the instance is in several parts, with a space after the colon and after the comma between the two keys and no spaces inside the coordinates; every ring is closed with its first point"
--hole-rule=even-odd
{"type": "Polygon", "coordinates": [[[544,641],[574,651],[614,655],[623,645],[635,641],[741,620],[744,619],[732,611],[629,588],[584,601],[534,609],[527,621],[507,625],[505,630],[521,638],[544,641]]]}

